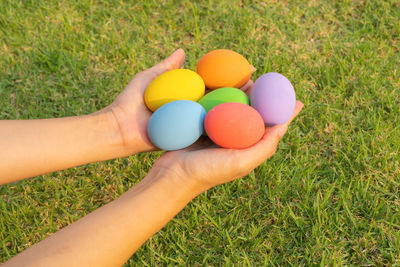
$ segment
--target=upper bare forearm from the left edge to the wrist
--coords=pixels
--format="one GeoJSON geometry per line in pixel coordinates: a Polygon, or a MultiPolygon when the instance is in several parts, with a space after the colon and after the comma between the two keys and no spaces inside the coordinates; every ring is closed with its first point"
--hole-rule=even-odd
{"type": "Polygon", "coordinates": [[[0,121],[0,184],[121,153],[112,114],[0,121]]]}

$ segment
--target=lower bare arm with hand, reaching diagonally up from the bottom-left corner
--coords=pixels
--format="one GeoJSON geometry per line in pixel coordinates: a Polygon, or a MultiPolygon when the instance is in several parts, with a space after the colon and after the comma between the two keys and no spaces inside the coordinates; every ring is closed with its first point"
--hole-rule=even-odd
{"type": "MultiPolygon", "coordinates": [[[[297,102],[292,119],[301,108],[297,102]]],[[[288,125],[267,129],[248,149],[218,148],[203,138],[189,148],[164,153],[134,188],[5,266],[120,266],[198,194],[249,173],[271,157],[288,125]]]]}

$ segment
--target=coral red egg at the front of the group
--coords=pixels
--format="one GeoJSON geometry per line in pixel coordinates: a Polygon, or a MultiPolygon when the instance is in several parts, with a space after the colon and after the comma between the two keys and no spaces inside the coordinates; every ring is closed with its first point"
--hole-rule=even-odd
{"type": "Polygon", "coordinates": [[[254,145],[265,132],[261,115],[242,103],[223,103],[214,107],[206,115],[204,128],[214,143],[233,149],[254,145]]]}

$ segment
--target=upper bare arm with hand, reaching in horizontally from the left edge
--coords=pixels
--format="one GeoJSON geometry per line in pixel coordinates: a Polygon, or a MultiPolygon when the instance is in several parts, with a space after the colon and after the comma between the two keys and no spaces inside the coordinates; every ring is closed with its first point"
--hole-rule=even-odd
{"type": "Polygon", "coordinates": [[[0,184],[154,149],[146,134],[151,116],[143,95],[150,82],[182,66],[178,49],[137,74],[115,101],[90,115],[0,121],[0,184]]]}

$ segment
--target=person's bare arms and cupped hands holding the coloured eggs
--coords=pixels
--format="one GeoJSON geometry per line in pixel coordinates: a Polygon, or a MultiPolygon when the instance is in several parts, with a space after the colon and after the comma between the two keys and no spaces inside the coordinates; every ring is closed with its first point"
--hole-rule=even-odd
{"type": "MultiPolygon", "coordinates": [[[[155,77],[181,67],[184,56],[179,49],[153,68],[137,74],[110,106],[92,115],[2,121],[0,145],[6,147],[8,154],[0,152],[0,181],[155,149],[146,135],[151,113],[143,103],[143,94],[155,77]],[[36,166],[43,164],[46,166],[36,166]],[[10,165],[13,170],[7,170],[10,165]]],[[[248,92],[251,85],[249,82],[242,89],[248,92]]],[[[197,195],[248,174],[271,157],[302,107],[297,102],[288,123],[267,128],[263,138],[250,148],[218,148],[203,138],[186,149],[164,153],[135,187],[18,254],[4,266],[123,265],[197,195]]]]}

